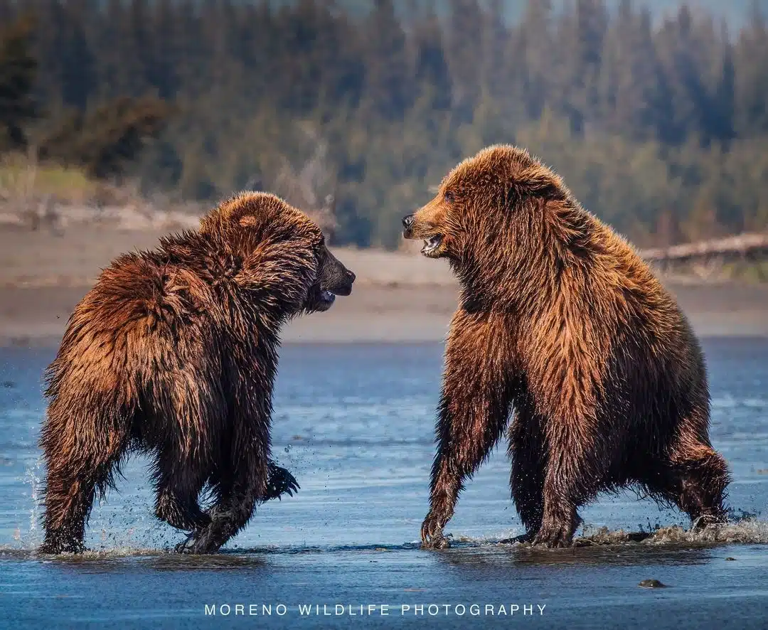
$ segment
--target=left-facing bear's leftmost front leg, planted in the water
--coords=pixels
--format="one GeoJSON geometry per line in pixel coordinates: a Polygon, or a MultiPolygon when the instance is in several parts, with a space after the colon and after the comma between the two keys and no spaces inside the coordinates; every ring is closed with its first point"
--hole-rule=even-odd
{"type": "Polygon", "coordinates": [[[445,549],[442,534],[464,487],[504,432],[511,407],[510,354],[500,316],[459,309],[451,322],[438,408],[422,547],[445,549]]]}

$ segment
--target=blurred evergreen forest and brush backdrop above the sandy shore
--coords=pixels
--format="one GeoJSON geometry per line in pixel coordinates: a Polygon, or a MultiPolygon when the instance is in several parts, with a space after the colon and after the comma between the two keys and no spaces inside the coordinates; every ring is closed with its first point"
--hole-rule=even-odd
{"type": "Polygon", "coordinates": [[[397,247],[450,167],[511,142],[641,246],[765,230],[766,2],[658,4],[0,0],[0,151],[273,190],[397,247]]]}

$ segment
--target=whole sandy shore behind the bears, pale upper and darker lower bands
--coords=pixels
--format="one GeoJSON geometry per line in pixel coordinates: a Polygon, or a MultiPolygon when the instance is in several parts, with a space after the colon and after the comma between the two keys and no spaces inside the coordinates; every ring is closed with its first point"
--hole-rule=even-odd
{"type": "MultiPolygon", "coordinates": [[[[0,347],[55,347],[99,270],[160,234],[88,227],[65,235],[0,231],[0,347]]],[[[336,250],[358,280],[327,313],[303,317],[285,343],[431,342],[445,338],[458,287],[443,261],[336,250]]],[[[768,337],[768,285],[666,280],[701,337],[768,337]]]]}

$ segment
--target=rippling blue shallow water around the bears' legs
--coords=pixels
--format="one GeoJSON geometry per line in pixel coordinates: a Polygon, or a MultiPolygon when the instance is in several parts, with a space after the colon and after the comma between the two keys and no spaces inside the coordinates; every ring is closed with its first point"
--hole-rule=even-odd
{"type": "Polygon", "coordinates": [[[522,532],[500,445],[446,528],[454,547],[423,552],[442,346],[307,345],[281,353],[273,423],[297,496],[262,506],[220,555],[172,555],[183,536],[152,516],[136,457],[94,508],[93,551],[56,559],[34,553],[52,352],[0,350],[0,626],[766,628],[768,340],[704,347],[711,435],[734,479],[723,529],[691,534],[684,516],[627,492],[581,512],[575,549],[498,544],[522,532]],[[640,531],[653,533],[624,542],[640,531]]]}

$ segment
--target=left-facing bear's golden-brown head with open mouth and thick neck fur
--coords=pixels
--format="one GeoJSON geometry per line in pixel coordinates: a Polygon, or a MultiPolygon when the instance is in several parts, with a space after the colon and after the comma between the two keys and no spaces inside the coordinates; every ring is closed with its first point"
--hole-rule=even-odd
{"type": "Polygon", "coordinates": [[[459,280],[488,294],[578,246],[588,217],[548,167],[495,145],[458,164],[402,224],[404,237],[425,241],[422,254],[447,258],[459,280]]]}

